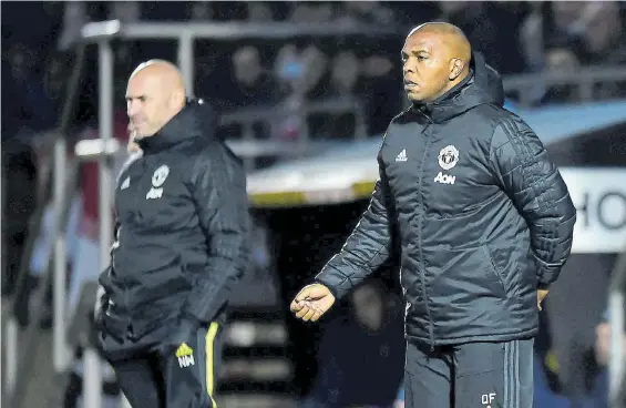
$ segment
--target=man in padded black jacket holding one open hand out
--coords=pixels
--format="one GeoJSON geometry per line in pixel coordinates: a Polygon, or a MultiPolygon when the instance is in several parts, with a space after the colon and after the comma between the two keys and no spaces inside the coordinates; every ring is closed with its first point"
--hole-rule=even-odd
{"type": "Polygon", "coordinates": [[[458,28],[415,28],[402,62],[412,105],[383,137],[370,205],[291,309],[317,320],[398,243],[406,407],[531,408],[537,310],[569,256],[576,211],[458,28]]]}

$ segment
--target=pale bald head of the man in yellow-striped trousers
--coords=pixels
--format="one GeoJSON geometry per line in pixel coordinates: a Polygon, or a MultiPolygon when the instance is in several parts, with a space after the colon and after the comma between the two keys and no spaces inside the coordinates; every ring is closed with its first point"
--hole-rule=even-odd
{"type": "Polygon", "coordinates": [[[135,139],[152,136],[185,106],[185,81],[171,62],[151,60],[131,74],[126,109],[135,139]]]}

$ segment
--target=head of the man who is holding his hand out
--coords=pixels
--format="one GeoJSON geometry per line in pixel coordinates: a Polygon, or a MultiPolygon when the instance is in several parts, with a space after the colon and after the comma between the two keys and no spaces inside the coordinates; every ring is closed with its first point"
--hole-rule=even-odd
{"type": "Polygon", "coordinates": [[[472,48],[455,26],[429,22],[415,27],[404,42],[404,89],[413,102],[441,96],[470,72],[472,48]]]}

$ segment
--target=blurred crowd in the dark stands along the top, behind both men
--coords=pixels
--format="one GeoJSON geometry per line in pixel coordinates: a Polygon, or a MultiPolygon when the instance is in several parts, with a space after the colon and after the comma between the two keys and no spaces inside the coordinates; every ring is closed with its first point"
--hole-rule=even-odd
{"type": "MultiPolygon", "coordinates": [[[[122,22],[291,22],[362,24],[363,32],[331,38],[294,35],[286,39],[195,41],[194,88],[223,112],[243,108],[293,106],[311,101],[358,101],[368,134],[384,130],[404,104],[399,79],[399,50],[408,30],[441,20],[459,26],[473,47],[503,74],[542,70],[574,71],[583,65],[626,62],[619,2],[9,2],[2,7],[3,92],[2,137],[24,130],[51,128],[59,116],[65,80],[75,63],[74,45],[90,21],[122,22]],[[28,16],[28,17],[24,17],[28,16]],[[24,24],[24,18],[29,24],[24,24]],[[376,24],[387,34],[368,35],[376,24]],[[9,91],[9,90],[8,90],[9,91]],[[7,100],[10,95],[11,103],[7,100]]],[[[116,42],[115,101],[123,109],[125,81],[132,69],[151,58],[176,60],[174,40],[116,42]]],[[[89,51],[81,90],[79,123],[93,123],[98,106],[98,54],[89,51]]],[[[620,89],[605,86],[603,96],[620,89]]],[[[567,86],[540,90],[534,103],[573,98],[567,86]]],[[[353,104],[328,118],[309,119],[310,136],[349,137],[353,104]],[[349,116],[349,118],[342,118],[349,116]]],[[[296,119],[258,125],[261,137],[297,137],[296,119]],[[267,126],[266,126],[267,128],[267,126]]],[[[237,136],[240,130],[229,129],[237,136]]]]}

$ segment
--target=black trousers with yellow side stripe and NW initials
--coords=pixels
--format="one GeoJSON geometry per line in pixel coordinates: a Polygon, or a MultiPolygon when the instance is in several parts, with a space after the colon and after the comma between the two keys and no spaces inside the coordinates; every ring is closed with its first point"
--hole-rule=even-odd
{"type": "Polygon", "coordinates": [[[222,327],[212,323],[170,351],[151,350],[110,360],[133,408],[216,408],[215,379],[222,357],[222,327]]]}

